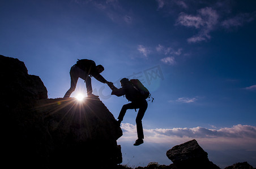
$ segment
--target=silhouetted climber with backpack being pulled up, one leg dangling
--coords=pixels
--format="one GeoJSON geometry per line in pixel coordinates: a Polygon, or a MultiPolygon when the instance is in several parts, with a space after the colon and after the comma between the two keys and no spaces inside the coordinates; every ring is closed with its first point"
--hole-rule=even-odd
{"type": "MultiPolygon", "coordinates": [[[[120,114],[118,116],[118,121],[117,123],[120,125],[123,117],[125,116],[126,110],[127,109],[139,109],[137,117],[136,117],[136,127],[137,127],[137,135],[138,139],[135,141],[134,145],[140,145],[143,143],[144,139],[144,134],[143,134],[143,127],[142,127],[142,118],[147,110],[147,100],[146,98],[148,97],[148,90],[145,89],[146,91],[146,97],[145,94],[142,94],[142,92],[132,83],[131,81],[138,81],[138,79],[129,79],[123,78],[121,79],[121,88],[116,88],[113,85],[109,85],[110,88],[112,88],[112,95],[116,96],[123,96],[125,95],[126,99],[131,101],[131,103],[125,104],[122,106],[122,109],[120,111],[120,114]]],[[[140,83],[140,82],[139,82],[140,83]]],[[[113,83],[112,83],[113,84],[113,83]]],[[[140,83],[141,84],[141,83],[140,83]]],[[[143,86],[143,85],[142,85],[143,86]]],[[[143,86],[144,87],[144,86],[143,86]]]]}

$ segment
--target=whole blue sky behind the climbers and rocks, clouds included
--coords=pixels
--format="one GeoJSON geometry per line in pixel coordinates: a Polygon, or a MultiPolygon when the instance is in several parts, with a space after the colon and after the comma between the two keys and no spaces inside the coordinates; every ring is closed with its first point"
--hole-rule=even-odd
{"type": "MultiPolygon", "coordinates": [[[[134,110],[122,123],[123,163],[172,163],[172,146],[196,139],[220,167],[256,166],[256,1],[0,1],[0,54],[24,61],[49,98],[63,97],[77,59],[105,67],[116,86],[139,78],[155,98],[136,140],[134,110]]],[[[123,97],[92,79],[114,117],[123,97]]],[[[86,94],[80,79],[75,97],[86,94]]]]}

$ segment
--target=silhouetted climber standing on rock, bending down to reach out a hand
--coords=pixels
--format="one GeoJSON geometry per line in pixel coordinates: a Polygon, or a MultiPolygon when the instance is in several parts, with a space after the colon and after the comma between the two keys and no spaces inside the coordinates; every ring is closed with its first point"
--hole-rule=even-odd
{"type": "Polygon", "coordinates": [[[92,94],[91,77],[96,78],[98,81],[102,83],[107,83],[108,85],[111,83],[106,81],[106,79],[102,75],[100,75],[100,73],[103,71],[104,71],[103,65],[96,66],[93,60],[81,59],[76,61],[76,64],[74,64],[70,69],[71,85],[69,90],[66,92],[64,98],[70,97],[72,92],[75,91],[78,78],[82,78],[84,82],[86,82],[87,96],[88,97],[95,96],[92,94]]]}

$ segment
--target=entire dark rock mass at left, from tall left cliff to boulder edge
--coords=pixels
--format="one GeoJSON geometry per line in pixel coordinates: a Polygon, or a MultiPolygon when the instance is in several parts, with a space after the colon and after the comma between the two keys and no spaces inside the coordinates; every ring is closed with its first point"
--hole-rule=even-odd
{"type": "Polygon", "coordinates": [[[99,100],[48,99],[18,59],[0,55],[2,166],[106,168],[122,162],[122,130],[99,100]]]}

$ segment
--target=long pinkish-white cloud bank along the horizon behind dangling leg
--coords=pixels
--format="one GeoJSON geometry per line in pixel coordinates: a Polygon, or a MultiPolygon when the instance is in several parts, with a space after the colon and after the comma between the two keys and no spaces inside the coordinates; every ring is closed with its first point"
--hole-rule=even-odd
{"type": "MultiPolygon", "coordinates": [[[[120,142],[136,138],[136,126],[122,123],[123,136],[120,142]]],[[[212,150],[250,149],[256,150],[256,127],[237,124],[232,127],[210,129],[205,127],[193,128],[156,128],[143,129],[148,143],[181,144],[196,139],[204,148],[212,150]]]]}

